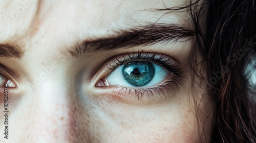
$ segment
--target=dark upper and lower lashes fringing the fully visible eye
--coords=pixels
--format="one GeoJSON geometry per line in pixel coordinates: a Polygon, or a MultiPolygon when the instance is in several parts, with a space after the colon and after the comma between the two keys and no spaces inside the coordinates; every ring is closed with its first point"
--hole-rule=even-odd
{"type": "MultiPolygon", "coordinates": [[[[134,62],[134,61],[147,61],[160,65],[170,71],[170,75],[166,78],[166,81],[157,87],[152,88],[134,88],[134,87],[116,87],[113,89],[118,95],[124,91],[123,96],[128,96],[131,93],[135,94],[138,100],[142,100],[142,97],[146,96],[148,100],[152,98],[154,100],[157,93],[160,97],[163,96],[166,99],[165,93],[168,91],[175,91],[183,81],[183,69],[179,67],[179,64],[167,55],[158,53],[126,53],[116,56],[106,64],[106,68],[110,70],[109,74],[105,76],[107,78],[116,68],[119,66],[134,62]],[[126,93],[127,92],[127,93],[126,93]]],[[[103,78],[104,79],[104,78],[103,78]]],[[[162,98],[162,97],[161,97],[162,98]]]]}

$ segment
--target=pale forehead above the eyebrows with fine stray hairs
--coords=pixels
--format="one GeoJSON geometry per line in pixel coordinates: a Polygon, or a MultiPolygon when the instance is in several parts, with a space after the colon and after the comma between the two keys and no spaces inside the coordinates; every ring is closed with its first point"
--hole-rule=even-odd
{"type": "Polygon", "coordinates": [[[0,35],[0,42],[18,37],[32,43],[54,40],[69,45],[79,38],[105,37],[114,34],[114,30],[143,26],[148,22],[183,25],[188,19],[186,10],[157,10],[183,7],[186,0],[44,1],[37,13],[39,3],[35,0],[1,1],[0,30],[4,34],[0,35]]]}

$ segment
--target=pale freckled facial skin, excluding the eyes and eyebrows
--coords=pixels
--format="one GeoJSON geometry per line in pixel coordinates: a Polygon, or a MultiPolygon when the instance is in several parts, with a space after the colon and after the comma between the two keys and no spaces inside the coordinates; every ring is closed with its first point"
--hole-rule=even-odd
{"type": "MultiPolygon", "coordinates": [[[[163,1],[46,1],[36,20],[37,2],[29,3],[17,19],[12,19],[12,10],[20,2],[0,2],[0,19],[5,21],[0,23],[0,43],[16,42],[25,51],[20,59],[0,58],[0,63],[17,76],[11,79],[17,87],[9,88],[9,139],[1,133],[1,142],[196,142],[201,134],[205,137],[199,142],[209,141],[211,116],[204,127],[202,120],[209,113],[211,100],[197,82],[196,96],[190,91],[188,57],[194,38],[79,57],[68,52],[77,40],[108,37],[113,30],[156,22],[165,12],[141,10],[163,9],[163,1]],[[100,67],[109,58],[138,51],[175,58],[184,69],[183,84],[166,91],[166,99],[155,93],[154,101],[95,87],[101,75],[108,74],[100,67]],[[41,73],[47,76],[42,79],[41,73]],[[203,113],[197,116],[194,107],[199,102],[203,113]]],[[[185,1],[164,4],[183,6],[185,1]]],[[[186,11],[174,12],[160,21],[188,26],[188,18],[186,11]]],[[[4,120],[1,116],[1,130],[4,120]]]]}

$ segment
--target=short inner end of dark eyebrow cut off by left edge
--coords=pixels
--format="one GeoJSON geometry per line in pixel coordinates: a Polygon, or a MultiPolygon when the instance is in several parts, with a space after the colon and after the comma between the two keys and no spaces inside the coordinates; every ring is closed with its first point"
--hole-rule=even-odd
{"type": "Polygon", "coordinates": [[[17,44],[1,44],[0,43],[0,57],[6,58],[22,58],[24,51],[22,47],[17,44]]]}

